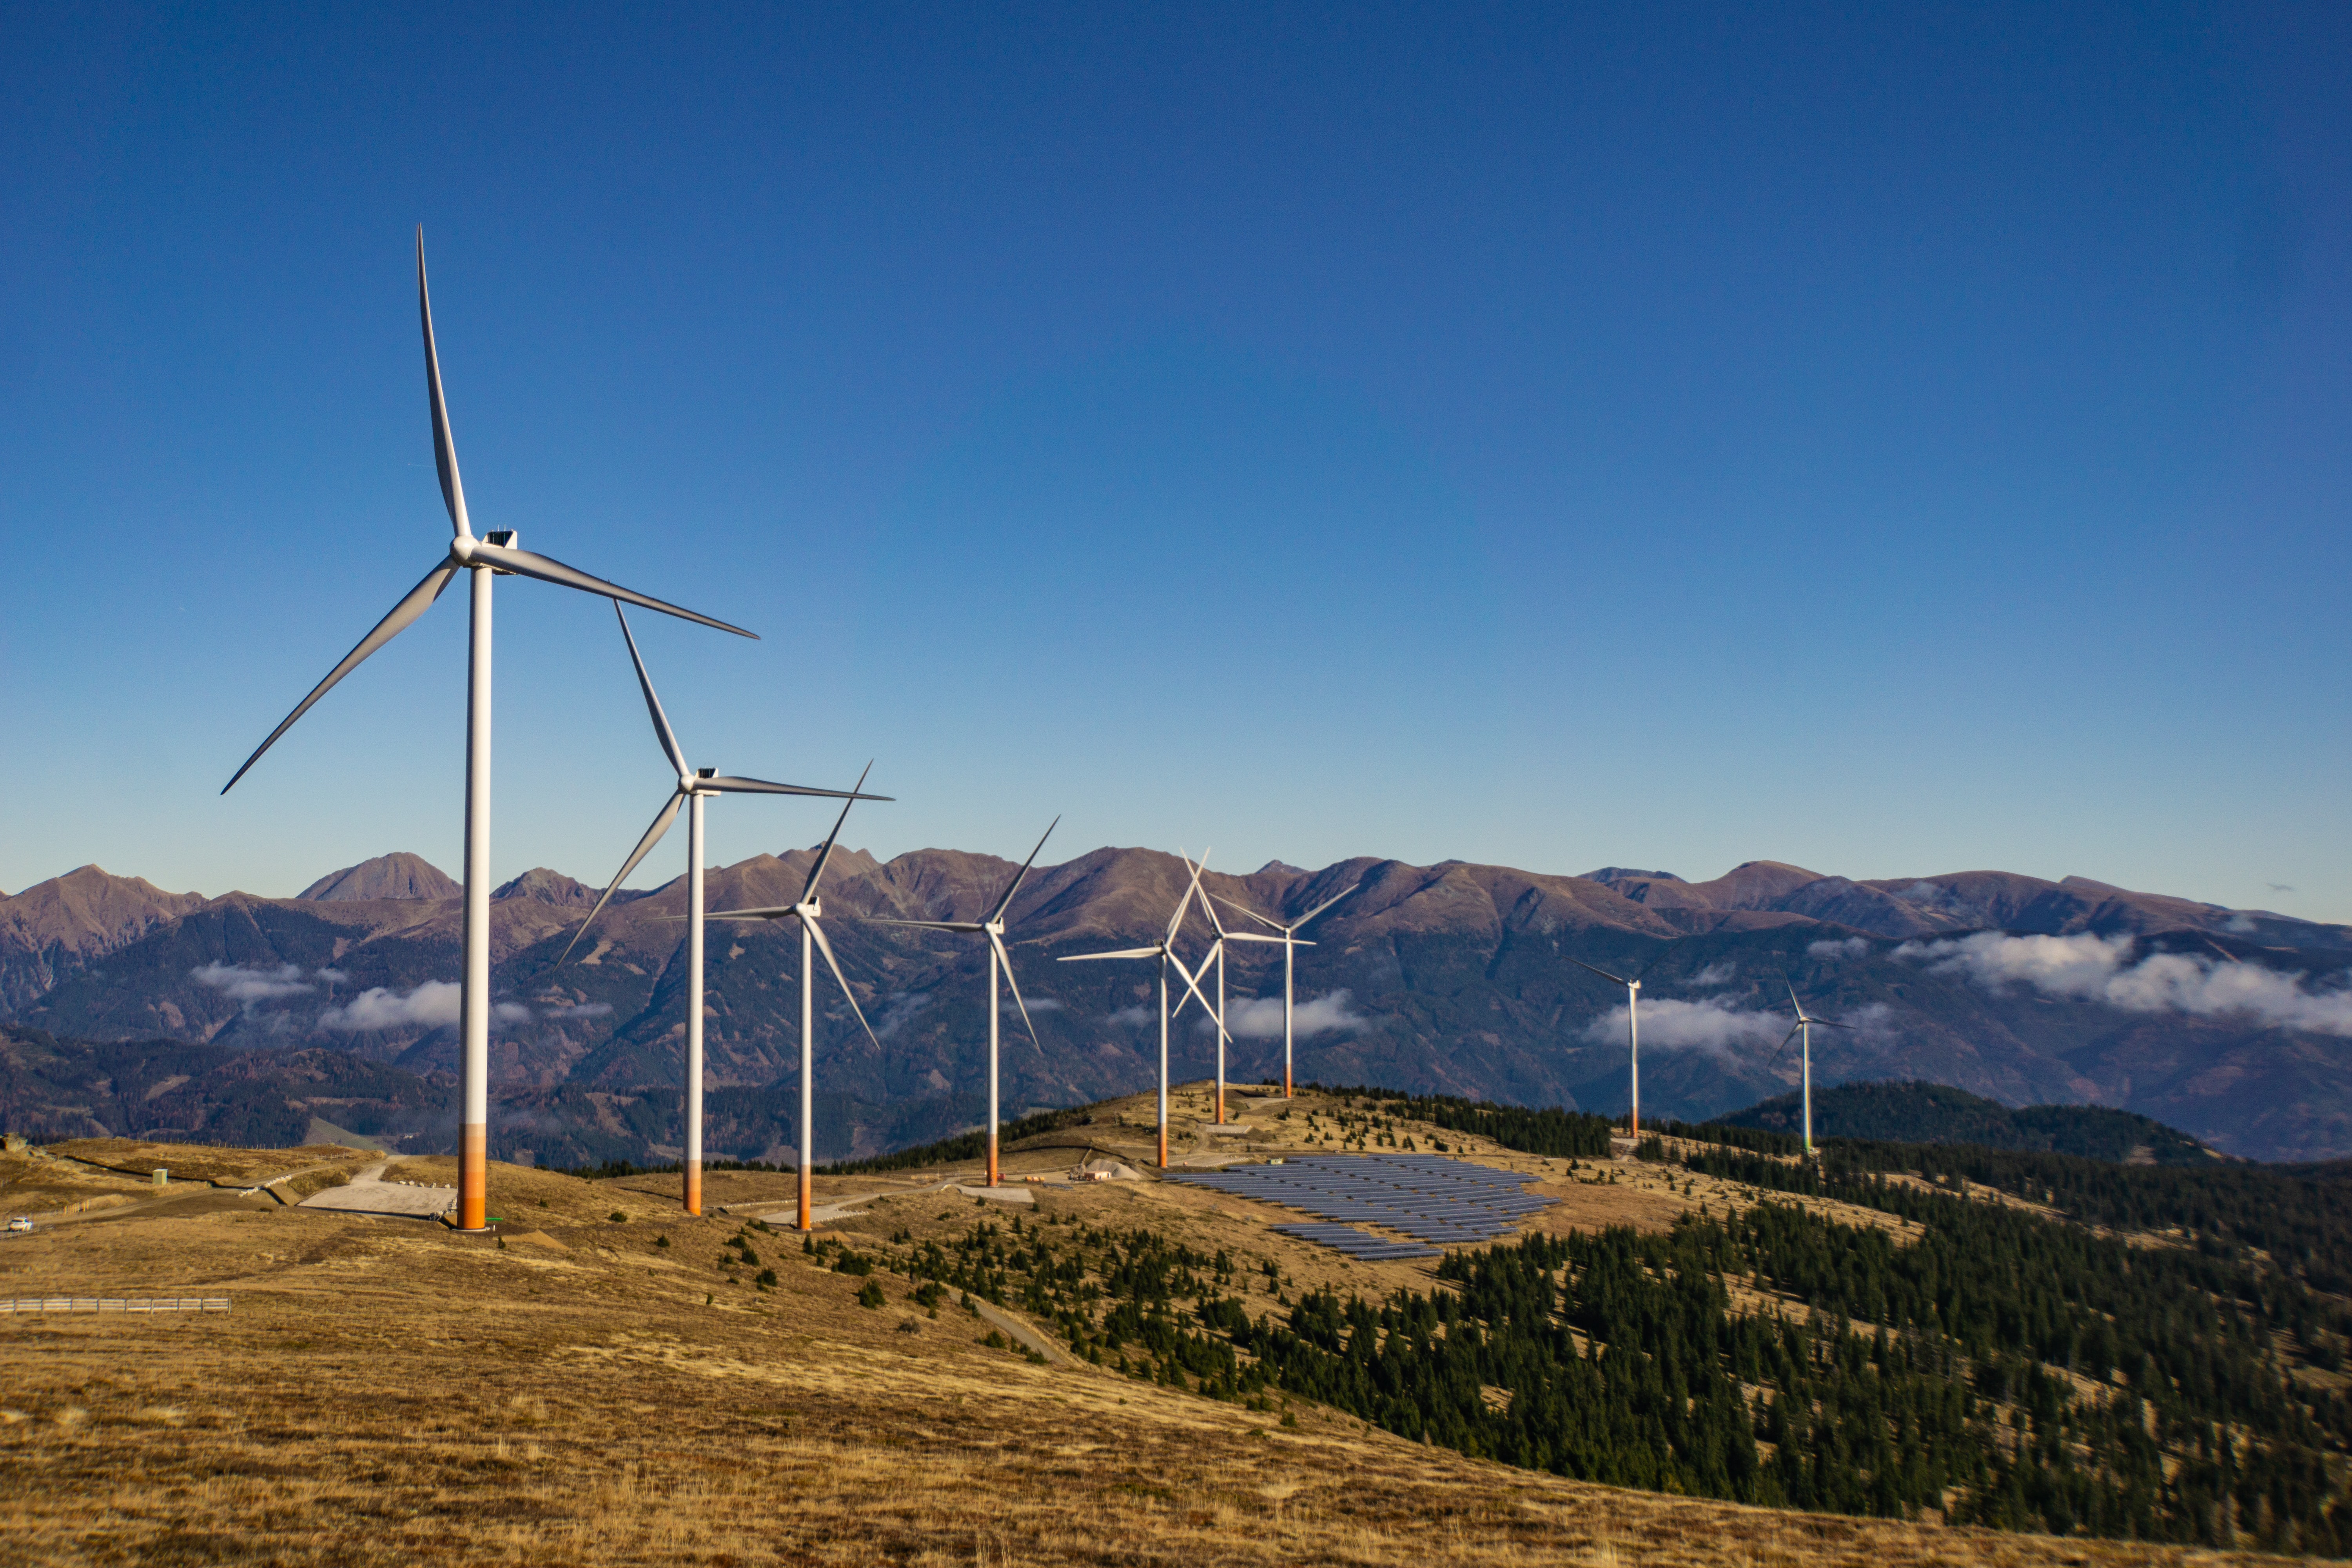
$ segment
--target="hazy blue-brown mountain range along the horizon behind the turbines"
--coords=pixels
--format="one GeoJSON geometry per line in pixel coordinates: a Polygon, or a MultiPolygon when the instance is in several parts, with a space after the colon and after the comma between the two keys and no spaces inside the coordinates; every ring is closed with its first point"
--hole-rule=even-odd
{"type": "MultiPolygon", "coordinates": [[[[795,849],[715,867],[710,907],[790,903],[809,863],[795,849]]],[[[826,980],[821,1157],[978,1114],[985,950],[868,919],[976,919],[1014,870],[967,851],[889,863],[837,851],[828,931],[880,1048],[826,980]]],[[[2082,877],[1853,882],[1778,860],[1684,882],[1352,858],[1204,884],[1284,919],[1348,893],[1298,952],[1298,1070],[1327,1084],[1623,1110],[1623,990],[1569,959],[1656,964],[1642,999],[1649,1117],[1698,1121],[1788,1091],[1795,1048],[1778,1046],[1795,985],[1809,1011],[1851,1025],[1816,1032],[1820,1084],[1926,1079],[2004,1105],[2112,1105],[2251,1159],[2352,1152],[2345,926],[2082,877]]],[[[1007,1114],[1152,1081],[1152,971],[1051,959],[1155,938],[1183,886],[1183,863],[1148,849],[1037,867],[1011,940],[1040,1041],[1007,999],[1007,1114]]],[[[579,1157],[623,1135],[675,1147],[682,900],[682,877],[619,896],[557,969],[595,889],[541,867],[496,891],[496,1147],[579,1157]]],[[[0,898],[0,1018],[59,1039],[334,1048],[447,1074],[459,924],[456,884],[412,853],[332,872],[299,898],[165,893],[85,865],[0,898]]],[[[1207,940],[1195,912],[1183,947],[1200,954],[1207,940]]],[[[1279,950],[1230,950],[1237,1079],[1279,1074],[1279,950]]],[[[788,1157],[793,933],[715,929],[706,1009],[713,1154],[788,1157]]],[[[1178,1077],[1211,1070],[1197,1009],[1171,1056],[1178,1077]]]]}

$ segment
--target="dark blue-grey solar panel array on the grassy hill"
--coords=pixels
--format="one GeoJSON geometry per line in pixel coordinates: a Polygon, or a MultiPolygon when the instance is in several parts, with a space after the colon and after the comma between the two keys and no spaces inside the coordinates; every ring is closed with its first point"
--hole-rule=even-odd
{"type": "Polygon", "coordinates": [[[1167,1180],[1298,1208],[1331,1225],[1275,1229],[1338,1248],[1350,1258],[1435,1258],[1435,1246],[1494,1241],[1522,1218],[1550,1208],[1534,1197],[1534,1178],[1435,1154],[1310,1154],[1279,1166],[1232,1171],[1169,1171],[1167,1180]],[[1411,1246],[1352,1229],[1378,1225],[1430,1246],[1411,1246]]]}

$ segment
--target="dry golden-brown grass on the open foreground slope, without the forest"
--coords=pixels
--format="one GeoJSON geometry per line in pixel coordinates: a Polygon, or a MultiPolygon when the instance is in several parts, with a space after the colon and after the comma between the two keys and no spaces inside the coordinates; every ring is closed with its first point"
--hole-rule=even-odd
{"type": "MultiPolygon", "coordinates": [[[[520,1220],[508,1248],[230,1194],[0,1246],[5,1295],[235,1300],[228,1316],[0,1319],[0,1549],[336,1568],[2251,1561],[1625,1493],[1305,1403],[1287,1429],[983,1349],[983,1324],[920,1316],[901,1279],[882,1276],[887,1309],[861,1309],[861,1281],[807,1267],[781,1234],[755,1232],[779,1291],[729,1286],[715,1262],[736,1222],[689,1220],[640,1185],[494,1166],[492,1211],[520,1220]]],[[[1044,1218],[1150,1222],[1341,1286],[1421,1284],[1399,1265],[1334,1267],[1263,1229],[1282,1215],[1228,1204],[1124,1185],[1040,1197],[1044,1218]]],[[[901,1194],[842,1234],[875,1248],[983,1213],[1011,1218],[901,1194]]]]}

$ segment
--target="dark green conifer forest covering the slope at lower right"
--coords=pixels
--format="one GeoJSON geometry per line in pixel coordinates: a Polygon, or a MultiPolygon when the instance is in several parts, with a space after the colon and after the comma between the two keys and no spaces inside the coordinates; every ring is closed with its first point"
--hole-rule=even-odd
{"type": "Polygon", "coordinates": [[[983,1222],[896,1267],[931,1281],[922,1305],[948,1286],[1025,1309],[1136,1378],[1590,1481],[2352,1554],[2340,1180],[1917,1145],[1818,1166],[1698,1145],[1677,1168],[1750,1201],[1456,1251],[1378,1300],[1056,1222],[983,1222]]]}

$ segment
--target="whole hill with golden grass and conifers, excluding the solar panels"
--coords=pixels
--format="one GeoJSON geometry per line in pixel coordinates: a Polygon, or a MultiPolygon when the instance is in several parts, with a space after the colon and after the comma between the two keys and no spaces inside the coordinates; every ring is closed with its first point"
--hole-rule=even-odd
{"type": "MultiPolygon", "coordinates": [[[[1896,1145],[1853,1145],[1813,1173],[1755,1131],[1613,1159],[1578,1117],[1364,1091],[1289,1112],[1251,1103],[1244,1138],[1209,1138],[1188,1086],[1178,1147],[1411,1140],[1559,1201],[1432,1267],[1345,1262],[1268,1229],[1291,1213],[1174,1182],[978,1199],[955,1145],[823,1175],[842,1211],[811,1244],[781,1229],[793,1178],[767,1171],[713,1173],[689,1220],[668,1175],[494,1166],[503,1222],[475,1239],[247,1194],[325,1192],[383,1164],[367,1150],[0,1157],[0,1206],[59,1215],[0,1246],[0,1295],[235,1302],[0,1319],[0,1544],[42,1563],[2343,1549],[2347,1324],[2310,1284],[2343,1241],[2331,1180],[2272,1175],[2305,1192],[2279,1204],[2244,1168],[1922,1150],[1898,1171],[1896,1145]],[[2241,1185],[2178,1187],[2209,1175],[2241,1185]],[[2201,1218],[2166,1218],[2180,1192],[2201,1218]],[[2119,1234],[2129,1204],[2145,1222],[2119,1234]]],[[[1009,1168],[1136,1159],[1148,1117],[1145,1098],[1063,1112],[1009,1168]]]]}

